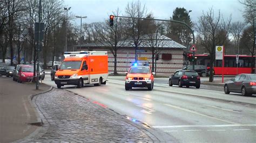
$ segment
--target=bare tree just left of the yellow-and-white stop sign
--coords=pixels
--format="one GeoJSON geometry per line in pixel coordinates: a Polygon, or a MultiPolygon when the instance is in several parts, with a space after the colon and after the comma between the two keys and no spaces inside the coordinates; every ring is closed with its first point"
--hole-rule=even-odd
{"type": "Polygon", "coordinates": [[[199,17],[197,31],[199,42],[210,54],[210,77],[209,82],[213,81],[213,63],[215,61],[215,46],[223,45],[228,39],[228,30],[231,17],[227,20],[221,18],[220,11],[217,17],[214,15],[213,8],[209,9],[203,16],[199,17]]]}

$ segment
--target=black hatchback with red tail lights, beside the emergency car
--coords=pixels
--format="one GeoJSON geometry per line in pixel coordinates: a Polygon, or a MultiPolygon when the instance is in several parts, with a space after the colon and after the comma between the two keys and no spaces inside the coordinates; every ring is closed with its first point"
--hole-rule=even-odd
{"type": "Polygon", "coordinates": [[[200,88],[200,76],[193,70],[180,70],[169,77],[169,85],[179,85],[179,87],[190,86],[200,88]]]}

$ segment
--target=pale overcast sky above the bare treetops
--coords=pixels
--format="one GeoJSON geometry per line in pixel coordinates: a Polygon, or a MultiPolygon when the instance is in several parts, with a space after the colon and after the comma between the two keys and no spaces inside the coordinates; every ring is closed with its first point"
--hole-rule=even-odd
{"type": "MultiPolygon", "coordinates": [[[[125,7],[131,0],[64,0],[64,5],[71,7],[70,12],[73,15],[87,16],[83,19],[83,23],[103,22],[104,19],[109,18],[112,11],[119,8],[120,15],[125,15],[125,7]]],[[[133,1],[133,2],[137,2],[133,1]]],[[[244,5],[240,4],[238,0],[140,0],[142,4],[146,5],[147,11],[152,12],[155,18],[169,19],[172,16],[173,10],[177,7],[192,10],[190,17],[192,22],[197,22],[203,11],[209,8],[218,10],[223,14],[224,18],[232,15],[232,21],[244,22],[242,17],[242,10],[244,5]]],[[[80,25],[80,20],[74,22],[80,25]]]]}

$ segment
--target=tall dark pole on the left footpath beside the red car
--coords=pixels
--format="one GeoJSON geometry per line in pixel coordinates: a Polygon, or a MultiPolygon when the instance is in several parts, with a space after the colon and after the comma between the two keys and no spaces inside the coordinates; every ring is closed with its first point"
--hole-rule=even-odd
{"type": "MultiPolygon", "coordinates": [[[[36,69],[36,90],[39,89],[39,48],[41,46],[41,37],[40,37],[40,33],[41,33],[41,11],[42,11],[42,1],[39,0],[39,13],[38,13],[38,43],[37,43],[37,69],[36,69]]],[[[34,62],[36,62],[34,61],[34,62]]]]}

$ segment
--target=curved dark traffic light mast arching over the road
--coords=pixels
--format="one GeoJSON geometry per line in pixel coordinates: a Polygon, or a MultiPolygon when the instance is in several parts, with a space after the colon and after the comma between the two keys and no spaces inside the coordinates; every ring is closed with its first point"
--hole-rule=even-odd
{"type": "MultiPolygon", "coordinates": [[[[112,15],[111,15],[112,16],[112,15]]],[[[193,44],[195,43],[194,41],[194,31],[192,30],[192,28],[190,26],[188,26],[186,23],[184,22],[180,22],[178,20],[164,20],[164,19],[153,19],[153,18],[140,18],[140,17],[126,17],[126,16],[113,16],[113,17],[122,17],[122,18],[135,18],[135,19],[146,19],[146,20],[156,20],[156,21],[161,21],[161,22],[173,22],[173,23],[179,23],[179,24],[183,24],[185,25],[192,33],[193,35],[193,44]]],[[[137,54],[137,53],[136,53],[137,54]]],[[[137,57],[137,55],[135,55],[135,57],[137,57]]],[[[193,57],[194,57],[194,52],[193,52],[193,57]]],[[[137,58],[136,58],[137,59],[137,58]]],[[[194,70],[194,61],[193,61],[193,70],[194,70]]]]}

